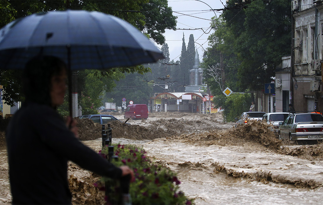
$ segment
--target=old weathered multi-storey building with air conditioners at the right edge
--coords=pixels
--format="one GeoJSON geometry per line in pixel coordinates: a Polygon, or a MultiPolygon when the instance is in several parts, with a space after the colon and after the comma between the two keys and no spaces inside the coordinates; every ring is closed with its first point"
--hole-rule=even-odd
{"type": "Polygon", "coordinates": [[[323,111],[323,2],[294,0],[292,11],[291,102],[296,111],[323,111]]]}

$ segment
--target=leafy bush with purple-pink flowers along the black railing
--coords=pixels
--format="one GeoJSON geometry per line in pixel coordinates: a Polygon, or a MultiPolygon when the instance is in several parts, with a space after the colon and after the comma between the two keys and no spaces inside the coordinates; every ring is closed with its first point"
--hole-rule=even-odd
{"type": "MultiPolygon", "coordinates": [[[[118,156],[118,160],[113,160],[112,163],[116,166],[127,165],[135,174],[135,182],[130,183],[132,204],[192,204],[179,190],[178,185],[181,182],[175,173],[160,165],[154,165],[145,156],[144,150],[133,145],[118,144],[116,147],[115,155],[118,156]]],[[[103,148],[100,154],[105,158],[108,148],[103,148]]],[[[110,184],[110,193],[106,199],[108,204],[118,201],[120,184],[109,178],[102,178],[102,181],[108,181],[110,184]]]]}

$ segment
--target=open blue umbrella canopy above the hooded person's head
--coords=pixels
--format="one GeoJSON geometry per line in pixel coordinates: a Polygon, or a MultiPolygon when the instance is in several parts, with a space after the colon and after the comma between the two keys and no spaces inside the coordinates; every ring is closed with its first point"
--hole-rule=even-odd
{"type": "Polygon", "coordinates": [[[71,70],[132,66],[164,58],[134,26],[100,12],[33,14],[0,30],[0,69],[23,69],[39,54],[57,56],[71,70]]]}

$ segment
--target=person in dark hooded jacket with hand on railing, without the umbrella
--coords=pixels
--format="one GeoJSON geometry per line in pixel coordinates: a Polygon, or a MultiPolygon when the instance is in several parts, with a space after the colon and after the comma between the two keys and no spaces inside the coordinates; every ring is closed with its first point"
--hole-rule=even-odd
{"type": "Polygon", "coordinates": [[[26,63],[26,101],[5,136],[13,204],[71,204],[68,160],[102,176],[131,175],[134,180],[129,167],[115,167],[78,141],[76,121],[68,118],[65,124],[56,112],[64,102],[66,73],[57,57],[38,56],[26,63]]]}

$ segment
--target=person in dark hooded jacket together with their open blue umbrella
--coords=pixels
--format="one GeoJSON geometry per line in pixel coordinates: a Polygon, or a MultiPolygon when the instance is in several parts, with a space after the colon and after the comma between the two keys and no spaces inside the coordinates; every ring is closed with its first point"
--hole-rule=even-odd
{"type": "MultiPolygon", "coordinates": [[[[38,13],[1,28],[0,69],[26,65],[26,102],[6,132],[12,202],[70,204],[68,160],[102,176],[133,175],[129,167],[117,168],[79,142],[76,122],[69,119],[68,130],[55,110],[63,103],[66,75],[71,85],[73,70],[129,67],[164,58],[137,28],[101,12],[38,13]],[[30,61],[37,55],[44,57],[30,61]]],[[[76,100],[72,107],[71,87],[69,111],[73,113],[78,106],[76,100]]]]}

